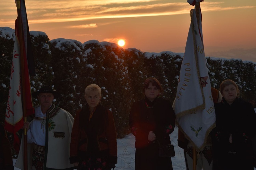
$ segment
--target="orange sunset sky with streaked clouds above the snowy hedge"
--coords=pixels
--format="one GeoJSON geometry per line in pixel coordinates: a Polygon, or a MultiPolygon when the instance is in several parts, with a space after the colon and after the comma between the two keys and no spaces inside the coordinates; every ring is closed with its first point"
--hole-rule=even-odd
{"type": "MultiPolygon", "coordinates": [[[[184,52],[189,12],[194,8],[186,0],[25,0],[25,3],[30,31],[45,32],[50,40],[66,38],[84,43],[95,39],[117,43],[124,39],[124,49],[144,52],[184,52]]],[[[251,53],[256,51],[252,51],[256,49],[256,0],[205,0],[200,5],[206,56],[222,56],[225,53],[219,51],[233,49],[237,50],[233,55],[246,53],[247,49],[251,53]]],[[[15,1],[1,0],[0,6],[0,27],[14,29],[15,1]]]]}

